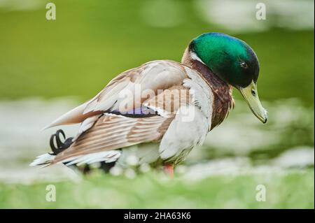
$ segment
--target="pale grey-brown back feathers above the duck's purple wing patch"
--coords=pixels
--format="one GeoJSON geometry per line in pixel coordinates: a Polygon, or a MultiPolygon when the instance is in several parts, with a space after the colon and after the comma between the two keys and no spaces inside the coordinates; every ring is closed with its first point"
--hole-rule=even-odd
{"type": "Polygon", "coordinates": [[[187,78],[187,73],[183,64],[169,60],[148,62],[120,73],[93,99],[70,110],[45,129],[63,124],[80,123],[94,115],[120,110],[124,105],[131,105],[133,109],[139,108],[141,103],[154,97],[158,90],[181,85],[185,78],[187,78]],[[155,95],[146,94],[146,90],[154,92],[155,95]],[[128,94],[132,94],[133,97],[126,99],[128,94]]]}

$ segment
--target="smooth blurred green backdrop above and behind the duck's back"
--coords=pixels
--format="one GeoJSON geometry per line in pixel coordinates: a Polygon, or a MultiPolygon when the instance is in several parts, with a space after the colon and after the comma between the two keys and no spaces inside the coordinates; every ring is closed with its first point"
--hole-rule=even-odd
{"type": "MultiPolygon", "coordinates": [[[[191,39],[204,32],[230,34],[204,20],[194,1],[172,1],[175,8],[166,13],[167,1],[156,1],[166,6],[155,4],[152,11],[155,5],[148,5],[150,1],[54,2],[57,20],[50,21],[45,20],[45,1],[34,10],[0,8],[3,99],[64,95],[90,99],[126,69],[154,59],[180,61],[191,39]],[[161,23],[167,19],[175,23],[163,27],[146,22],[156,17],[161,23]]],[[[253,8],[250,19],[255,20],[255,12],[253,8]]],[[[269,20],[268,15],[258,24],[269,20]]],[[[312,106],[314,31],[270,26],[268,31],[234,34],[251,45],[260,59],[260,97],[298,97],[312,106]]]]}

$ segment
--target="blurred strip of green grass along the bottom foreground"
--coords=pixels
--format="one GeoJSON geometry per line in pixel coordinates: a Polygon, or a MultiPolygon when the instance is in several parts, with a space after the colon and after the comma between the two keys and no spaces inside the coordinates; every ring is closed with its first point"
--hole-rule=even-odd
{"type": "Polygon", "coordinates": [[[314,208],[314,169],[258,175],[170,180],[157,173],[134,179],[94,173],[79,182],[0,184],[0,208],[314,208]],[[56,201],[45,201],[45,187],[56,201]],[[265,185],[266,201],[255,200],[265,185]]]}

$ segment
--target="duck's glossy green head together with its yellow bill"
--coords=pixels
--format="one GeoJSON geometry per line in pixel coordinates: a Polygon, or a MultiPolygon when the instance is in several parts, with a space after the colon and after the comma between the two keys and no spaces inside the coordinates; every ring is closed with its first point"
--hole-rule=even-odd
{"type": "Polygon", "coordinates": [[[259,62],[249,45],[226,34],[207,33],[193,39],[189,50],[192,57],[208,66],[215,75],[239,89],[253,113],[267,122],[256,87],[259,62]]]}

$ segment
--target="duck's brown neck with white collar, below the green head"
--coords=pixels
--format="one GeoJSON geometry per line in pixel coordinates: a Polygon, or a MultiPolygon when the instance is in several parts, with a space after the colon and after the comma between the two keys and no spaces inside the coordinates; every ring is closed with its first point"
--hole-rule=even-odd
{"type": "Polygon", "coordinates": [[[232,86],[214,74],[189,48],[185,50],[181,63],[197,70],[212,89],[214,104],[211,129],[213,129],[223,122],[230,109],[235,105],[232,98],[232,86]]]}

